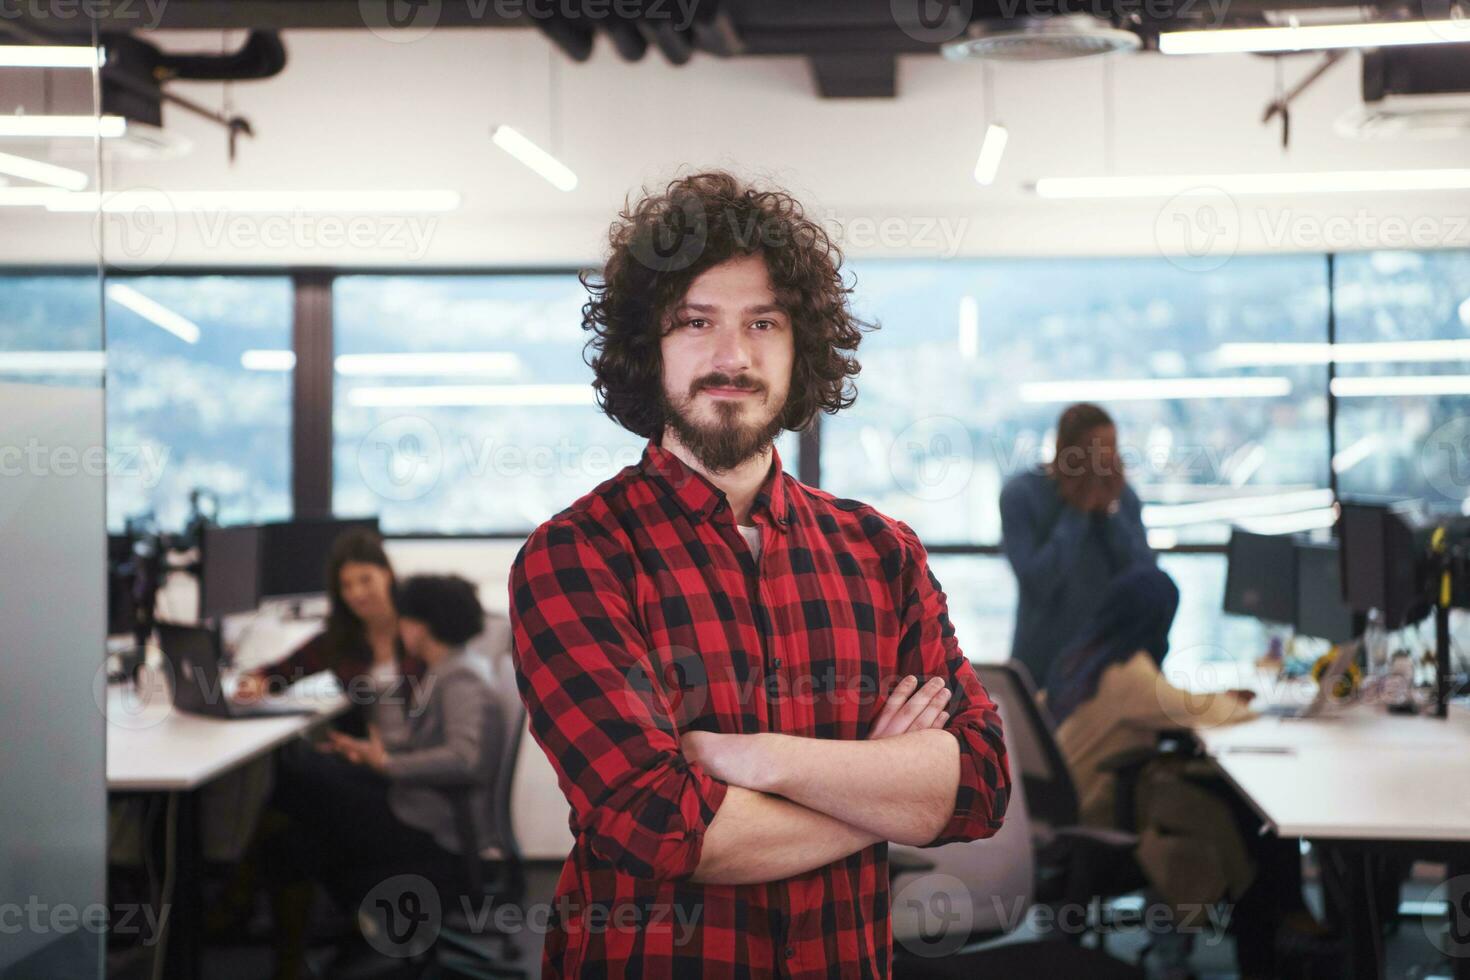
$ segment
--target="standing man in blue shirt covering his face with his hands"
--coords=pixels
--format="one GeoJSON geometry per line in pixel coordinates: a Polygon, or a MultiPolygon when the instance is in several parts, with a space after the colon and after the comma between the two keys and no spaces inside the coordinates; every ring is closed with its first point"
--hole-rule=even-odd
{"type": "Polygon", "coordinates": [[[1107,411],[1088,403],[1069,407],[1057,422],[1055,458],[1005,483],[1001,547],[1020,592],[1011,657],[1039,686],[1113,576],[1138,561],[1155,563],[1107,411]]]}

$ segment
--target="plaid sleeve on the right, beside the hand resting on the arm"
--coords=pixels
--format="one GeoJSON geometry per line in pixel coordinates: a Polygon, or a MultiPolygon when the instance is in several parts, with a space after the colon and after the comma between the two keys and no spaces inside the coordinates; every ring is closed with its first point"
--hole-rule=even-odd
{"type": "Polygon", "coordinates": [[[950,720],[944,729],[960,742],[960,785],[948,823],[929,843],[935,848],[989,837],[1001,829],[1010,801],[1010,764],[1001,738],[1001,716],[960,649],[948,604],[919,536],[900,522],[907,560],[903,573],[904,616],[898,663],[920,682],[938,674],[950,688],[950,720]]]}

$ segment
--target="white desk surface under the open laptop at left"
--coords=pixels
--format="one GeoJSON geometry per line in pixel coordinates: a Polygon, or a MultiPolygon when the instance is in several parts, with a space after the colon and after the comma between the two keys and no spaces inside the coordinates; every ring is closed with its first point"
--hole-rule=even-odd
{"type": "Polygon", "coordinates": [[[316,714],[273,718],[206,718],[175,711],[166,691],[107,691],[107,789],[190,790],[265,755],[347,710],[347,698],[320,699],[316,714]]]}

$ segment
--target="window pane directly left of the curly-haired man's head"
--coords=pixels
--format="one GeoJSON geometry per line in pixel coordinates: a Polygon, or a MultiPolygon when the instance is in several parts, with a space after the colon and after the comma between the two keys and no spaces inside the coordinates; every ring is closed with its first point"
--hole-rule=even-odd
{"type": "Polygon", "coordinates": [[[332,510],[523,533],[637,463],[594,398],[585,301],[572,273],[338,278],[332,510]]]}

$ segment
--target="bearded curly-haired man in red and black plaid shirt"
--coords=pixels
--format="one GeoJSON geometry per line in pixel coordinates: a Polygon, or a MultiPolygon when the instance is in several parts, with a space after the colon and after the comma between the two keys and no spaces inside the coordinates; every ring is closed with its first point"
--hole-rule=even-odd
{"type": "Polygon", "coordinates": [[[642,460],[510,576],[531,733],[570,804],[542,976],[886,977],[888,842],[994,835],[1000,717],[914,532],[782,469],[856,397],[841,254],[788,194],[673,181],[582,326],[642,460]]]}

